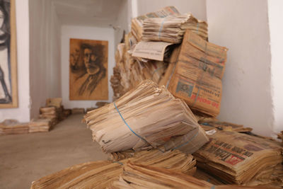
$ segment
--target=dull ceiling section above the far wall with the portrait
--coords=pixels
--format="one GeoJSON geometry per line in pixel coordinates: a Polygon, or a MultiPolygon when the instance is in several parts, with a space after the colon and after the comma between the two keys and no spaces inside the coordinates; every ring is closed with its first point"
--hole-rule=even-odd
{"type": "Polygon", "coordinates": [[[52,0],[62,25],[109,27],[123,0],[52,0]]]}

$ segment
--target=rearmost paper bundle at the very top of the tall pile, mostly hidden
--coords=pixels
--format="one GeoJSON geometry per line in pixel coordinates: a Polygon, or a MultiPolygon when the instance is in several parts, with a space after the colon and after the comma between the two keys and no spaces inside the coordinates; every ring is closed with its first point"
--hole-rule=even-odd
{"type": "Polygon", "coordinates": [[[146,15],[138,16],[132,19],[131,33],[134,35],[137,41],[141,40],[142,36],[142,25],[146,18],[164,18],[167,16],[178,16],[180,15],[177,8],[174,6],[166,6],[159,11],[153,13],[146,13],[146,15]]]}

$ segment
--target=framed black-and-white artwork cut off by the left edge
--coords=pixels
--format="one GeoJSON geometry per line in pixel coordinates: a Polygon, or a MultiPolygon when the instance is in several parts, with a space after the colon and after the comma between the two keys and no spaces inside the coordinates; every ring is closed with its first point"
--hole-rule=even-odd
{"type": "Polygon", "coordinates": [[[18,106],[15,1],[0,0],[0,108],[18,106]]]}

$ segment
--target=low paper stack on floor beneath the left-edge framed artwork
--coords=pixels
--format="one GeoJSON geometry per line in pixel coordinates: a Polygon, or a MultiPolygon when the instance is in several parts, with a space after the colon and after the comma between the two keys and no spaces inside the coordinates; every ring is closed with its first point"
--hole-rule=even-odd
{"type": "Polygon", "coordinates": [[[28,133],[28,123],[18,120],[4,120],[0,122],[0,134],[24,134],[28,133]]]}

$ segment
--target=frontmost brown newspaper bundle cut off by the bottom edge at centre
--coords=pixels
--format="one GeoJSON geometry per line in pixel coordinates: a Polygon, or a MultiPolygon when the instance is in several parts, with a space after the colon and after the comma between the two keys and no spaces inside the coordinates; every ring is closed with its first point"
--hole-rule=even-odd
{"type": "Polygon", "coordinates": [[[134,164],[129,161],[124,166],[119,181],[113,181],[109,189],[124,188],[216,188],[216,189],[248,189],[270,188],[266,187],[243,187],[237,185],[213,185],[207,181],[201,181],[180,172],[166,170],[165,168],[134,164]]]}

